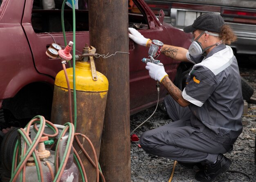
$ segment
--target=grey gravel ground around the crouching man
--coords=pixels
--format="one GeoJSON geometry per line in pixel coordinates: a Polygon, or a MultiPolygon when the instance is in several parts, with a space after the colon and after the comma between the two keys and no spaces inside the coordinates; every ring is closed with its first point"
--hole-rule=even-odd
{"type": "MultiPolygon", "coordinates": [[[[240,68],[240,74],[249,81],[254,88],[253,97],[256,98],[256,68],[240,68]]],[[[234,144],[233,151],[226,153],[225,156],[232,160],[229,170],[239,171],[249,175],[237,172],[225,172],[216,178],[216,182],[255,182],[256,181],[256,165],[254,162],[254,145],[256,128],[256,104],[248,103],[248,114],[243,115],[243,132],[234,144]]],[[[135,129],[141,122],[145,121],[155,107],[139,112],[130,117],[131,131],[135,129]]],[[[165,125],[172,122],[168,116],[161,110],[157,110],[155,114],[144,125],[139,127],[135,134],[140,137],[142,132],[165,125]]],[[[147,154],[143,149],[139,148],[138,143],[131,143],[131,181],[132,182],[168,182],[171,171],[173,169],[173,160],[153,156],[147,154]]],[[[175,167],[172,182],[197,182],[195,180],[195,172],[198,169],[183,167],[179,164],[175,167]]]]}

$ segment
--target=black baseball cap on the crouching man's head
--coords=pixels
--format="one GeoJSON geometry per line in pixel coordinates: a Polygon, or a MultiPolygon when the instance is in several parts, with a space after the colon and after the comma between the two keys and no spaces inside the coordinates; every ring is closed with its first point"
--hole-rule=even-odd
{"type": "Polygon", "coordinates": [[[192,33],[196,29],[220,33],[220,28],[225,25],[223,18],[217,13],[205,13],[195,19],[192,25],[184,27],[185,33],[192,33]]]}

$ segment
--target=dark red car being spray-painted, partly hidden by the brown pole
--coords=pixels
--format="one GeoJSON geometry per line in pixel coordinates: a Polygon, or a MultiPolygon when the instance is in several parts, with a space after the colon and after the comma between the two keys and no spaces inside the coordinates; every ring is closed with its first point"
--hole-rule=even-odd
{"type": "MultiPolygon", "coordinates": [[[[62,65],[60,59],[50,59],[45,51],[53,42],[64,46],[62,0],[55,0],[54,9],[43,9],[41,2],[0,0],[0,129],[11,125],[23,127],[38,114],[50,118],[54,78],[62,70],[62,65]]],[[[129,27],[139,29],[144,37],[164,44],[189,47],[190,35],[164,23],[163,14],[157,18],[144,0],[133,0],[132,6],[135,8],[129,12],[129,27]]],[[[64,17],[68,42],[72,41],[73,33],[72,10],[67,6],[64,17]]],[[[76,50],[81,52],[86,43],[89,43],[88,10],[86,4],[79,4],[79,10],[76,10],[76,50]]],[[[148,49],[130,40],[129,52],[130,114],[135,114],[156,104],[157,91],[155,81],[149,77],[141,61],[148,57],[148,49]]],[[[157,59],[164,64],[171,80],[174,81],[179,70],[175,83],[182,81],[186,65],[164,55],[157,59]]],[[[162,87],[160,101],[166,93],[162,87]]]]}

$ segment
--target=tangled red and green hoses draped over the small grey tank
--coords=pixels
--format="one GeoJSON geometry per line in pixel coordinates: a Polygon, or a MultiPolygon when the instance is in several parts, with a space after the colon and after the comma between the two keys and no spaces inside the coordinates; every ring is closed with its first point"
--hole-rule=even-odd
{"type": "MultiPolygon", "coordinates": [[[[65,164],[67,164],[67,160],[68,160],[67,156],[70,155],[70,151],[72,149],[74,150],[74,158],[79,167],[79,171],[81,173],[82,179],[83,179],[83,181],[87,182],[88,180],[86,178],[85,169],[83,167],[81,159],[80,159],[78,153],[76,152],[76,150],[74,149],[74,147],[72,147],[74,137],[82,136],[83,138],[85,138],[88,141],[88,143],[90,144],[90,146],[92,147],[92,150],[94,152],[94,159],[95,159],[96,164],[94,164],[94,162],[92,162],[92,159],[89,156],[87,156],[87,157],[92,162],[94,167],[98,167],[97,166],[98,161],[97,161],[97,155],[96,155],[95,149],[88,137],[86,137],[85,135],[80,134],[80,133],[76,133],[76,134],[74,133],[74,125],[72,123],[65,123],[64,126],[65,127],[62,130],[61,135],[58,138],[58,141],[56,144],[56,155],[55,155],[55,160],[54,160],[55,161],[54,162],[55,174],[54,174],[53,182],[60,181],[61,175],[63,174],[63,171],[65,169],[65,164]],[[67,147],[65,148],[63,160],[60,161],[60,164],[58,166],[57,164],[59,163],[59,161],[58,161],[59,141],[61,140],[61,137],[65,136],[65,134],[67,132],[68,132],[67,147]]],[[[25,164],[31,155],[33,156],[35,164],[36,164],[36,172],[38,175],[38,181],[44,182],[42,166],[41,166],[41,162],[40,162],[39,156],[36,151],[36,146],[38,145],[39,140],[42,136],[48,136],[49,138],[56,138],[56,136],[58,136],[58,129],[56,128],[56,126],[54,124],[45,120],[45,118],[43,116],[35,116],[27,124],[26,129],[20,128],[20,129],[18,129],[18,133],[20,134],[22,139],[25,141],[25,143],[23,143],[23,146],[21,146],[21,138],[19,138],[18,141],[16,142],[15,149],[13,152],[14,153],[13,154],[13,164],[12,164],[10,182],[16,181],[18,178],[18,175],[20,175],[19,181],[25,182],[25,169],[26,169],[25,164]],[[34,131],[36,132],[36,136],[33,141],[29,137],[30,126],[32,126],[32,125],[34,125],[34,131]],[[44,129],[45,129],[46,125],[54,131],[54,134],[50,135],[50,134],[44,133],[44,129]],[[39,128],[38,128],[38,126],[39,126],[39,128]],[[28,149],[27,149],[27,147],[28,147],[28,149]]],[[[80,145],[81,145],[81,143],[80,143],[80,145]]],[[[85,149],[82,146],[80,146],[80,147],[81,147],[82,151],[84,153],[86,153],[85,149]]],[[[49,168],[49,171],[50,171],[50,173],[53,173],[50,168],[49,168]]],[[[105,179],[104,179],[102,173],[100,173],[100,174],[101,174],[102,181],[105,182],[105,179]]],[[[97,181],[99,181],[99,170],[97,171],[97,176],[98,176],[97,181]]]]}

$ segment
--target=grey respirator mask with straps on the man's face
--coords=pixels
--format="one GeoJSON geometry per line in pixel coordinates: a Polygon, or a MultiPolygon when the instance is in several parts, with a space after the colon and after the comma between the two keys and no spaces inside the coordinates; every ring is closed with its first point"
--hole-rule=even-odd
{"type": "Polygon", "coordinates": [[[198,39],[200,39],[200,37],[204,34],[207,33],[209,35],[213,35],[213,36],[217,36],[219,37],[220,35],[217,33],[210,33],[208,31],[203,31],[202,33],[200,33],[200,35],[194,40],[194,37],[192,38],[192,43],[189,46],[189,54],[191,56],[198,56],[198,55],[202,55],[207,49],[211,48],[212,46],[218,46],[220,44],[222,44],[222,40],[220,42],[217,42],[216,44],[213,44],[207,48],[203,48],[202,45],[198,42],[198,39]]]}

